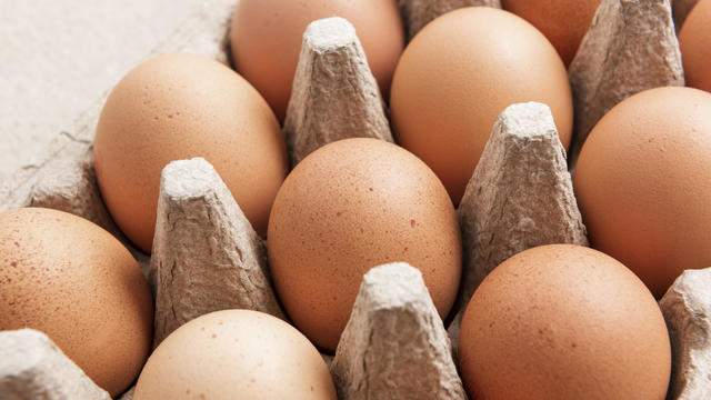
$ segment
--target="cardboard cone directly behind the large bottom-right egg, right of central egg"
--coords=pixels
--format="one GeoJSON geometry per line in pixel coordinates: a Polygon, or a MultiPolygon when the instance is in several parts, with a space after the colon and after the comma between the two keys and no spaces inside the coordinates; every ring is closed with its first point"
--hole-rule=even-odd
{"type": "Polygon", "coordinates": [[[497,266],[538,246],[589,246],[548,106],[529,102],[503,110],[457,213],[463,262],[459,311],[449,327],[454,347],[469,299],[497,266]]]}

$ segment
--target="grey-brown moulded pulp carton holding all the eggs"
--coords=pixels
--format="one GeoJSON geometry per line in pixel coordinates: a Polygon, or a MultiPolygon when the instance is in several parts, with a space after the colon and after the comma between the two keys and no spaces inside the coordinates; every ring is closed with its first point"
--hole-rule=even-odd
{"type": "MultiPolygon", "coordinates": [[[[693,2],[675,0],[678,26],[693,2]]],[[[148,57],[192,52],[229,64],[234,3],[207,1],[148,57]]],[[[500,7],[499,0],[398,3],[409,38],[455,8],[500,7]]],[[[452,323],[445,329],[441,322],[417,269],[373,266],[363,277],[336,356],[323,354],[339,398],[467,398],[454,354],[461,313],[477,286],[525,249],[561,242],[587,246],[569,172],[582,140],[624,98],[683,84],[669,0],[603,0],[569,74],[577,112],[570,160],[547,106],[512,104],[501,113],[458,209],[463,273],[452,323]],[[402,330],[413,340],[399,340],[402,330]]],[[[154,346],[210,311],[247,308],[284,318],[271,286],[266,243],[206,160],[177,160],[164,168],[152,257],[117,229],[93,171],[92,138],[107,94],[78,118],[72,132],[58,136],[41,162],[17,171],[0,188],[0,210],[59,209],[122,240],[154,294],[154,346]],[[198,264],[200,270],[192,268],[198,264]],[[210,296],[197,296],[206,292],[210,296]]],[[[365,134],[392,141],[387,108],[348,21],[331,18],[307,29],[283,130],[293,163],[338,139],[365,134]]],[[[660,301],[672,341],[671,399],[711,393],[710,287],[711,270],[687,271],[660,301]]],[[[0,399],[109,398],[41,332],[0,332],[0,399]]],[[[121,398],[131,399],[132,393],[121,398]]]]}

